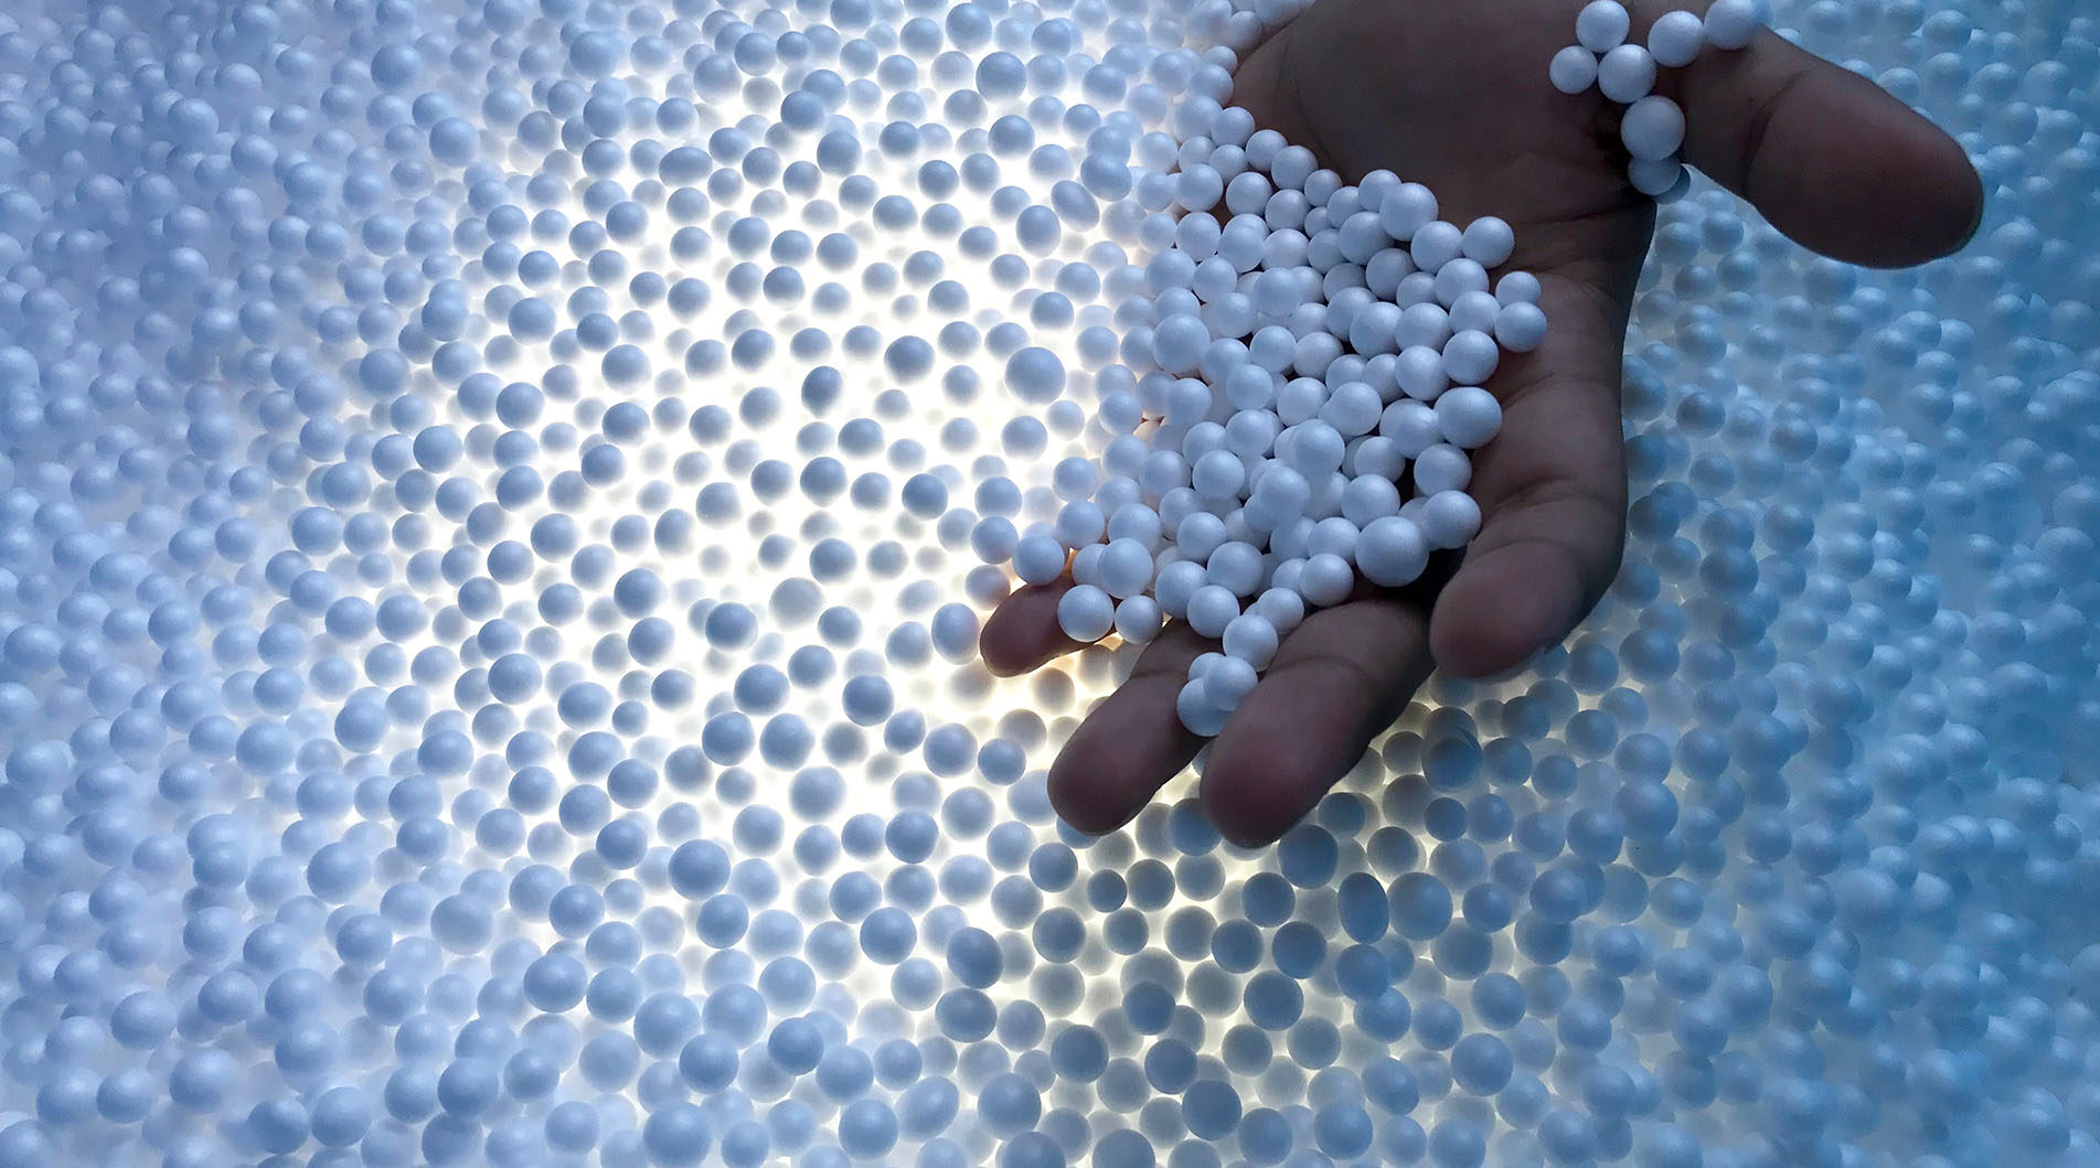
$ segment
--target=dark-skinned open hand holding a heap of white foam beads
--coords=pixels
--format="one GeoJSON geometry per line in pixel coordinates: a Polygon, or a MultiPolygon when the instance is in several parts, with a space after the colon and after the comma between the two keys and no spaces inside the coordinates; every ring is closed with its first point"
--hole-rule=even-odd
{"type": "MultiPolygon", "coordinates": [[[[1476,452],[1485,515],[1462,563],[1401,592],[1369,588],[1312,613],[1233,712],[1203,769],[1218,830],[1266,844],[1361,758],[1443,668],[1491,676],[1560,641],[1617,576],[1625,544],[1619,363],[1655,204],[1625,181],[1619,107],[1552,88],[1575,0],[1319,0],[1252,50],[1233,103],[1310,147],[1346,181],[1388,168],[1428,185],[1443,218],[1497,214],[1508,269],[1541,281],[1546,342],[1506,355],[1489,389],[1499,437],[1476,452]]],[[[1636,0],[1632,40],[1667,6],[1636,0]]],[[[1873,82],[1772,32],[1663,69],[1686,116],[1684,160],[1827,256],[1898,267],[1974,233],[1982,185],[1947,134],[1873,82]]],[[[1075,649],[1056,626],[1069,580],[1014,592],[987,620],[985,664],[1031,670],[1075,649]]],[[[1071,735],[1050,800],[1109,832],[1203,746],[1174,712],[1189,662],[1216,645],[1172,624],[1071,735]]]]}

